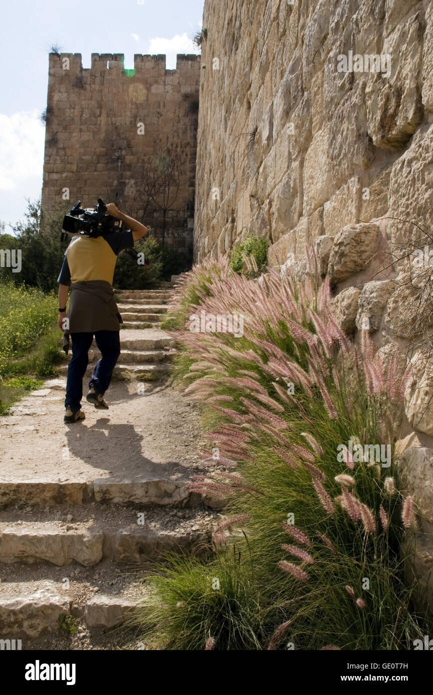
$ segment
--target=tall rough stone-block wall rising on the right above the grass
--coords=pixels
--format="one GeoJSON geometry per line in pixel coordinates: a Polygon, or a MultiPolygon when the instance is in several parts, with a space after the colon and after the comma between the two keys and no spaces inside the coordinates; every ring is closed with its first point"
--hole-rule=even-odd
{"type": "Polygon", "coordinates": [[[411,359],[393,471],[433,605],[432,3],[206,0],[203,25],[195,259],[252,233],[304,272],[314,247],[345,331],[411,359]]]}

